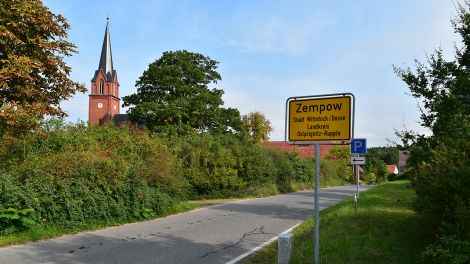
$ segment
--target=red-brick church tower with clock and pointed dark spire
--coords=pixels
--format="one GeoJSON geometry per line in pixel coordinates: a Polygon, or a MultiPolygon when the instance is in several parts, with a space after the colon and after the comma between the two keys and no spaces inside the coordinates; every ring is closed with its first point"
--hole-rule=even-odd
{"type": "Polygon", "coordinates": [[[113,67],[111,39],[109,36],[109,18],[106,21],[100,63],[91,80],[91,93],[88,105],[88,123],[90,125],[108,122],[119,114],[119,83],[113,67]]]}

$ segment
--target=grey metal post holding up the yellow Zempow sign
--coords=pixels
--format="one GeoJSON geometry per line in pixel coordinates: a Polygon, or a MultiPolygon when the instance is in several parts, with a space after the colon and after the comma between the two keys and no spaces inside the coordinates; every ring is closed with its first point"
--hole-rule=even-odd
{"type": "Polygon", "coordinates": [[[315,143],[315,229],[314,254],[315,264],[320,263],[320,144],[315,143]]]}

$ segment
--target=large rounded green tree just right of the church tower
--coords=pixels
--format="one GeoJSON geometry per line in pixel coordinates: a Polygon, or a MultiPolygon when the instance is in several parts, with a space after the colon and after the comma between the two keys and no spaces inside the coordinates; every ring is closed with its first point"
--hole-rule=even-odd
{"type": "Polygon", "coordinates": [[[131,121],[145,120],[150,130],[165,126],[197,131],[240,131],[240,113],[223,108],[218,62],[186,50],[167,51],[137,80],[137,93],[125,96],[131,121]]]}

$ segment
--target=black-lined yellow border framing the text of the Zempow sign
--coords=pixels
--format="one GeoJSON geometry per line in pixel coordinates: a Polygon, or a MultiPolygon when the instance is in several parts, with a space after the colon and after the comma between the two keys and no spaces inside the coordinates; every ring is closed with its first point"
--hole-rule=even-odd
{"type": "MultiPolygon", "coordinates": [[[[353,138],[354,138],[354,114],[355,114],[355,98],[352,93],[340,93],[340,94],[325,94],[325,95],[312,95],[312,96],[296,96],[296,97],[289,97],[286,101],[286,130],[285,130],[285,141],[290,143],[290,144],[312,144],[315,142],[329,142],[330,144],[348,144],[353,138]],[[348,132],[349,135],[346,137],[341,137],[341,138],[322,138],[322,139],[305,139],[304,138],[299,138],[299,137],[292,137],[291,136],[291,127],[293,123],[293,116],[292,113],[290,112],[290,106],[291,103],[293,102],[301,102],[301,101],[312,101],[312,100],[328,100],[328,99],[344,99],[348,98],[348,103],[349,103],[349,118],[346,118],[348,123],[349,123],[349,128],[348,132]]],[[[312,109],[311,109],[312,110],[312,109]]],[[[313,109],[312,111],[319,111],[319,108],[317,106],[316,109],[313,109]]],[[[321,111],[320,111],[321,113],[321,111]]],[[[329,121],[330,123],[332,121],[329,121]]],[[[328,123],[328,125],[331,125],[328,123]]],[[[344,124],[340,124],[344,126],[344,124]]],[[[295,130],[298,131],[298,130],[295,130]]],[[[343,130],[344,131],[344,127],[343,130]]]]}

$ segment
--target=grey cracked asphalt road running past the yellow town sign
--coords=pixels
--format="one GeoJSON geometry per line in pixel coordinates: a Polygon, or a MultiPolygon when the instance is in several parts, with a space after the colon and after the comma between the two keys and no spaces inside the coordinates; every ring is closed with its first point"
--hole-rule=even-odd
{"type": "MultiPolygon", "coordinates": [[[[355,190],[321,189],[320,206],[349,198],[355,190]]],[[[304,221],[313,208],[313,191],[237,201],[0,248],[0,263],[226,263],[304,221]]]]}

